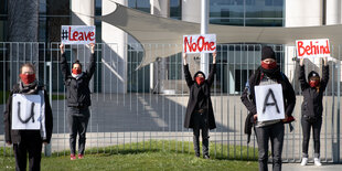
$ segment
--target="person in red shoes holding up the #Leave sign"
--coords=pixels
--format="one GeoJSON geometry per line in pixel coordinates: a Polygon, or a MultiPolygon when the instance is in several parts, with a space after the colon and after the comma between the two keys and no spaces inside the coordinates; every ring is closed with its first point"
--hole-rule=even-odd
{"type": "Polygon", "coordinates": [[[64,53],[64,45],[61,49],[61,70],[64,76],[64,84],[66,86],[66,97],[68,106],[68,127],[70,127],[70,147],[71,160],[75,160],[76,137],[78,138],[78,159],[84,158],[84,150],[86,143],[86,130],[90,117],[89,106],[90,89],[89,82],[95,72],[95,44],[90,43],[92,56],[86,72],[82,72],[82,64],[73,63],[72,73],[67,66],[66,56],[64,53]]]}

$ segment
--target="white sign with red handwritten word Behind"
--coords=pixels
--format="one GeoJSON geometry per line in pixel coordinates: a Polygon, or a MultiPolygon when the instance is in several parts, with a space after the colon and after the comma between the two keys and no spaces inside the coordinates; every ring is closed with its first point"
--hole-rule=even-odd
{"type": "Polygon", "coordinates": [[[296,41],[298,58],[302,57],[328,57],[330,56],[329,39],[298,40],[296,41]]]}

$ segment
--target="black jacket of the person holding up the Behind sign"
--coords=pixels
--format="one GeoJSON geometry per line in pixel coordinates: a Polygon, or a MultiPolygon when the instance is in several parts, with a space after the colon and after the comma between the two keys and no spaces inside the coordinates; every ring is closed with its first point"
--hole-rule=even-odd
{"type": "Polygon", "coordinates": [[[306,79],[304,66],[300,66],[299,82],[302,90],[303,101],[301,105],[301,114],[317,118],[322,117],[323,111],[323,93],[329,82],[329,65],[322,67],[322,78],[320,81],[319,90],[316,87],[310,87],[306,79]]]}

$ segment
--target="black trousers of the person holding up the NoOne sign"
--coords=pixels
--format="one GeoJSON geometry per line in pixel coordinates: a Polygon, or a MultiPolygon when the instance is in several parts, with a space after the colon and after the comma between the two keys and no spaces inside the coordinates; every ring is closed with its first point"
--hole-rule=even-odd
{"type": "Polygon", "coordinates": [[[194,113],[192,115],[193,125],[193,147],[195,154],[200,156],[200,130],[202,130],[202,151],[203,156],[209,154],[209,127],[207,114],[194,113]]]}

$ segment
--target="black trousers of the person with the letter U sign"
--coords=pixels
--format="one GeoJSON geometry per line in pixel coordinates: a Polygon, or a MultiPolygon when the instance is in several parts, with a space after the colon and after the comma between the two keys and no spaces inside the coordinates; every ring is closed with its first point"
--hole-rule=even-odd
{"type": "Polygon", "coordinates": [[[32,133],[33,131],[29,130],[29,132],[21,132],[20,143],[13,143],[17,171],[26,170],[28,153],[30,171],[41,170],[42,139],[40,131],[32,133]]]}

